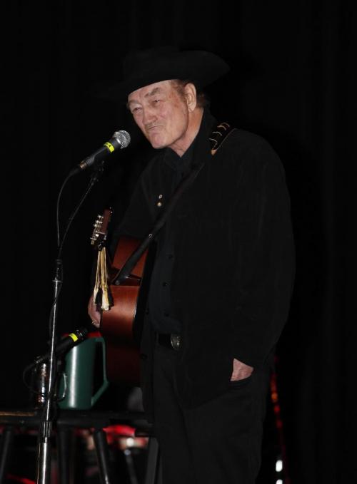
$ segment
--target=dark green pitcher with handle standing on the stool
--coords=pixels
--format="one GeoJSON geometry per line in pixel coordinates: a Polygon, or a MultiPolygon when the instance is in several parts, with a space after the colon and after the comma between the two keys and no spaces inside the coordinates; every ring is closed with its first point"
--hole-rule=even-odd
{"type": "Polygon", "coordinates": [[[89,333],[87,339],[66,354],[59,379],[60,408],[89,409],[108,388],[106,346],[103,337],[97,335],[89,333]]]}

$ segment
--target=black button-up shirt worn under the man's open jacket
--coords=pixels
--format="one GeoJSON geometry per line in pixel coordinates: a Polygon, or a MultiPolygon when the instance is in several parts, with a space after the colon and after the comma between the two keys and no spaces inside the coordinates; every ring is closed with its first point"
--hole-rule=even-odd
{"type": "MultiPolygon", "coordinates": [[[[191,171],[194,141],[181,157],[171,148],[166,149],[164,163],[171,168],[171,195],[181,180],[191,171]]],[[[158,206],[163,207],[160,195],[158,206]]],[[[154,269],[151,274],[148,309],[151,324],[158,333],[181,333],[181,322],[174,314],[171,305],[171,275],[174,267],[174,238],[170,218],[156,238],[157,254],[154,269]]]]}

